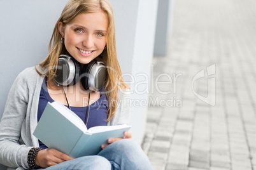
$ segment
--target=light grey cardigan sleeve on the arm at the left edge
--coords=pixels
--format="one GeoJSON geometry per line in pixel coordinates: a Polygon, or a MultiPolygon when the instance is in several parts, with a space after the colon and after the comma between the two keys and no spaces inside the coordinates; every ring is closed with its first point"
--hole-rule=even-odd
{"type": "Polygon", "coordinates": [[[27,75],[27,70],[24,70],[13,82],[0,122],[0,163],[25,169],[29,169],[27,154],[31,147],[20,145],[20,136],[29,98],[27,75]]]}

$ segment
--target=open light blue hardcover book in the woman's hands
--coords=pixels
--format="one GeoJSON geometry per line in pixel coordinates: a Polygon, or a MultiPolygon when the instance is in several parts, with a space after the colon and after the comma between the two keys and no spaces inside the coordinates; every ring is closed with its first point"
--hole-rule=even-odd
{"type": "Polygon", "coordinates": [[[48,148],[55,148],[70,157],[97,155],[101,145],[108,143],[108,138],[124,137],[124,131],[131,126],[95,126],[87,129],[85,123],[74,112],[59,101],[48,102],[34,136],[48,148]]]}

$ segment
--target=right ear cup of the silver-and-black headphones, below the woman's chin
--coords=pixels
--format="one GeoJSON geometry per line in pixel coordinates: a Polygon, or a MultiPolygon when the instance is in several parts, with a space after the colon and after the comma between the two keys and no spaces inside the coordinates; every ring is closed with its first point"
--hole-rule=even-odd
{"type": "Polygon", "coordinates": [[[106,80],[106,66],[103,62],[92,62],[83,66],[82,69],[82,86],[85,90],[99,91],[106,80]]]}

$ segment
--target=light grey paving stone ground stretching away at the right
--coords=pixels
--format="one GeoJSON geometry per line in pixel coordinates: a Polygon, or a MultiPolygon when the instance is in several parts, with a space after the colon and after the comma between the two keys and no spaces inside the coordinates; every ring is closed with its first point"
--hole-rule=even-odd
{"type": "Polygon", "coordinates": [[[256,169],[256,1],[176,0],[172,17],[143,150],[155,170],[256,169]]]}

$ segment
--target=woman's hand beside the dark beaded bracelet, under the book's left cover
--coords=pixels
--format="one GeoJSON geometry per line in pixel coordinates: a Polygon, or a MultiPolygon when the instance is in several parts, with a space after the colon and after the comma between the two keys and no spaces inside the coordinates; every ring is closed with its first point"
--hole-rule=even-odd
{"type": "Polygon", "coordinates": [[[36,164],[40,167],[46,168],[71,159],[73,158],[69,157],[67,154],[59,152],[58,150],[53,148],[46,148],[40,150],[38,155],[36,155],[36,164]]]}

